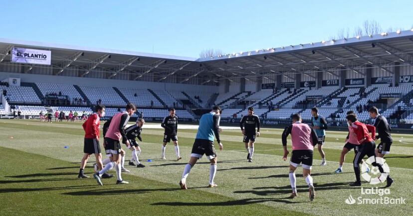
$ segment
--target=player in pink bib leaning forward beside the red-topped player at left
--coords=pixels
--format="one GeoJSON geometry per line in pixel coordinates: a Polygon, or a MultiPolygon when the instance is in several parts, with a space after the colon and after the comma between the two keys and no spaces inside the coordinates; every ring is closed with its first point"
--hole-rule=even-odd
{"type": "Polygon", "coordinates": [[[116,184],[129,184],[129,182],[122,179],[121,171],[122,157],[119,156],[122,152],[120,145],[120,139],[122,138],[122,143],[130,145],[128,137],[126,137],[125,126],[129,121],[129,118],[133,113],[135,113],[136,107],[133,104],[126,105],[126,110],[113,115],[111,120],[106,121],[103,125],[103,130],[107,130],[104,139],[104,147],[106,150],[106,155],[110,158],[110,163],[105,165],[101,171],[93,174],[93,178],[96,179],[98,185],[103,186],[100,179],[103,173],[113,169],[115,167],[117,181],[116,184]]]}

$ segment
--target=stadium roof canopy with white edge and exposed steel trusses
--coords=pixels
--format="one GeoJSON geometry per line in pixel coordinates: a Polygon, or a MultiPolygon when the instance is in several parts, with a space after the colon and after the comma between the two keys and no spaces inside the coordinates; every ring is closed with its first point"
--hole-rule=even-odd
{"type": "MultiPolygon", "coordinates": [[[[0,38],[0,64],[16,64],[10,62],[13,46],[51,50],[53,75],[76,68],[81,71],[79,76],[84,76],[96,68],[106,73],[108,79],[127,73],[132,75],[131,80],[140,80],[150,73],[155,82],[166,82],[167,77],[174,75],[181,83],[198,77],[199,84],[207,85],[235,78],[254,81],[271,75],[294,79],[297,73],[315,78],[314,73],[319,71],[338,77],[334,69],[348,69],[363,75],[365,68],[376,67],[393,74],[396,62],[413,66],[413,29],[200,59],[0,38]]],[[[24,66],[26,73],[32,67],[46,67],[24,66]]]]}

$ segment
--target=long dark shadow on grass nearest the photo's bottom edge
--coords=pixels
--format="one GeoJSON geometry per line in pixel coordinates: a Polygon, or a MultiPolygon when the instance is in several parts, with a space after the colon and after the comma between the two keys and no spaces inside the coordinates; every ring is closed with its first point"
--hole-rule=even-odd
{"type": "Polygon", "coordinates": [[[160,202],[151,205],[154,206],[243,206],[249,204],[258,204],[264,202],[276,202],[276,203],[304,203],[304,202],[291,202],[286,199],[271,199],[271,198],[248,198],[242,200],[224,201],[224,202],[211,202],[211,203],[189,203],[189,202],[160,202]]]}

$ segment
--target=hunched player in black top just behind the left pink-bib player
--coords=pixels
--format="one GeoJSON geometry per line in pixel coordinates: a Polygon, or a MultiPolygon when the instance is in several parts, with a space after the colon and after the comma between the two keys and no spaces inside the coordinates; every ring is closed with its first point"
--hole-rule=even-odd
{"type": "Polygon", "coordinates": [[[136,121],[136,124],[126,128],[126,136],[129,139],[130,145],[128,145],[128,148],[132,150],[132,159],[129,161],[129,165],[135,166],[133,161],[136,161],[137,165],[136,167],[145,167],[145,165],[141,164],[139,162],[139,155],[141,154],[141,147],[139,147],[139,143],[136,142],[136,138],[139,139],[139,141],[142,142],[141,138],[141,132],[142,132],[142,126],[145,124],[145,120],[143,118],[139,118],[136,121]]]}

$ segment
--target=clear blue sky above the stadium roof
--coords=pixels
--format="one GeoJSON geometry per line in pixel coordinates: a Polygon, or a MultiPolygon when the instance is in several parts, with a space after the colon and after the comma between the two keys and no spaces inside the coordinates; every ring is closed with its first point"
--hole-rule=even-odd
{"type": "Polygon", "coordinates": [[[319,42],[364,20],[411,29],[412,0],[3,0],[0,38],[199,57],[319,42]]]}

